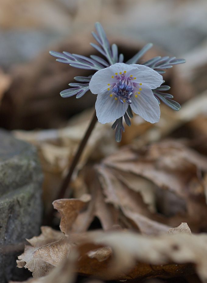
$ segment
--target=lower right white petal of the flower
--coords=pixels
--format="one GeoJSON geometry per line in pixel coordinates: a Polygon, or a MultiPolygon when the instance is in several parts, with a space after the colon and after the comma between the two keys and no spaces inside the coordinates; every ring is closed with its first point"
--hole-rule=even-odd
{"type": "Polygon", "coordinates": [[[160,106],[148,86],[142,86],[140,94],[133,94],[131,100],[131,108],[135,114],[139,114],[150,123],[156,123],[160,120],[160,106]]]}

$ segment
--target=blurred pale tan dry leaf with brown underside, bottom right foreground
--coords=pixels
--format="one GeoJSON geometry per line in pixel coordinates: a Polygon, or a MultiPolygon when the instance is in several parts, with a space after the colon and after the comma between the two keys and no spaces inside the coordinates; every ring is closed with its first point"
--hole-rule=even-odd
{"type": "Polygon", "coordinates": [[[129,232],[90,232],[80,250],[83,248],[86,251],[87,246],[90,250],[89,243],[106,245],[111,247],[113,257],[102,262],[83,257],[84,260],[79,261],[78,271],[104,279],[125,280],[190,274],[195,272],[191,265],[195,264],[199,277],[206,282],[206,242],[206,234],[177,233],[145,237],[129,232]]]}

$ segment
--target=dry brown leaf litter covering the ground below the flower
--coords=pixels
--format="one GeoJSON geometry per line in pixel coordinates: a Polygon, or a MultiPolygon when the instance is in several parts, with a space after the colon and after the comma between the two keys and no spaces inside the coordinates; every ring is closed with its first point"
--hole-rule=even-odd
{"type": "Polygon", "coordinates": [[[18,267],[34,277],[25,282],[75,283],[77,274],[88,282],[207,282],[207,96],[205,88],[193,93],[176,114],[162,105],[156,125],[134,119],[120,148],[109,127],[97,125],[67,199],[55,194],[91,112],[59,130],[14,132],[37,146],[45,207],[54,201],[60,216],[61,232],[43,226],[19,256],[18,267]],[[99,230],[90,231],[94,226],[99,230]]]}

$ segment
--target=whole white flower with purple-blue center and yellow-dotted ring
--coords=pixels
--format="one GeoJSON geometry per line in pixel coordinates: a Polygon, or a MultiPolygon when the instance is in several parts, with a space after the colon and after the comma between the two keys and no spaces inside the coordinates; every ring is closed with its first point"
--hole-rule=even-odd
{"type": "Polygon", "coordinates": [[[97,71],[89,89],[97,94],[96,116],[102,124],[124,116],[130,105],[150,123],[160,120],[160,107],[152,89],[163,83],[163,77],[153,69],[139,64],[116,63],[97,71]]]}

